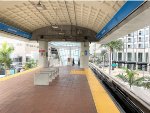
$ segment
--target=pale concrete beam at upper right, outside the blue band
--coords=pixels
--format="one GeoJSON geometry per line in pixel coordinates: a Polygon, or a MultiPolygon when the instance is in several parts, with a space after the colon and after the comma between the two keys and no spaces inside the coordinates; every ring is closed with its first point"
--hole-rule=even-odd
{"type": "Polygon", "coordinates": [[[150,25],[150,1],[146,1],[140,8],[132,12],[124,21],[113,28],[100,43],[107,43],[117,38],[121,38],[131,32],[150,25]]]}

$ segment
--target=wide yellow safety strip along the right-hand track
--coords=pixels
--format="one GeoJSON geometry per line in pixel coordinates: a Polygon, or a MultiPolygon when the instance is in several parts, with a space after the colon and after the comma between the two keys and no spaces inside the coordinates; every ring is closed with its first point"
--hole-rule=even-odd
{"type": "Polygon", "coordinates": [[[97,80],[91,69],[85,69],[97,113],[120,113],[113,100],[97,80]]]}

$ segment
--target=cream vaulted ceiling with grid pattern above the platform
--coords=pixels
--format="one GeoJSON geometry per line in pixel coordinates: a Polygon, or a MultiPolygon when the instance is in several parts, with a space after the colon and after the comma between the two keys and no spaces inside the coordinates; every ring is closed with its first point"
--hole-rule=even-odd
{"type": "MultiPolygon", "coordinates": [[[[0,1],[0,22],[26,32],[53,25],[100,31],[125,1],[0,1]]],[[[62,28],[60,28],[63,30],[62,28]]]]}

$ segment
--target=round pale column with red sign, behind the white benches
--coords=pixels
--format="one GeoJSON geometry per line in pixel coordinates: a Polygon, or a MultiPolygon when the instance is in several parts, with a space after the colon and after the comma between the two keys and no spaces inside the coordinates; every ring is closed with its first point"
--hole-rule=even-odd
{"type": "Polygon", "coordinates": [[[41,67],[48,67],[48,42],[39,41],[39,62],[41,67]]]}

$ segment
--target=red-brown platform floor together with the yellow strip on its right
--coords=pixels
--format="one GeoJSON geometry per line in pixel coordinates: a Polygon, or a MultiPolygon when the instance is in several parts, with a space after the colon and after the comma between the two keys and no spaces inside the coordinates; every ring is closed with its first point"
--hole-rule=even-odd
{"type": "Polygon", "coordinates": [[[49,86],[33,85],[37,71],[0,81],[0,113],[119,113],[90,69],[60,67],[49,86]]]}

